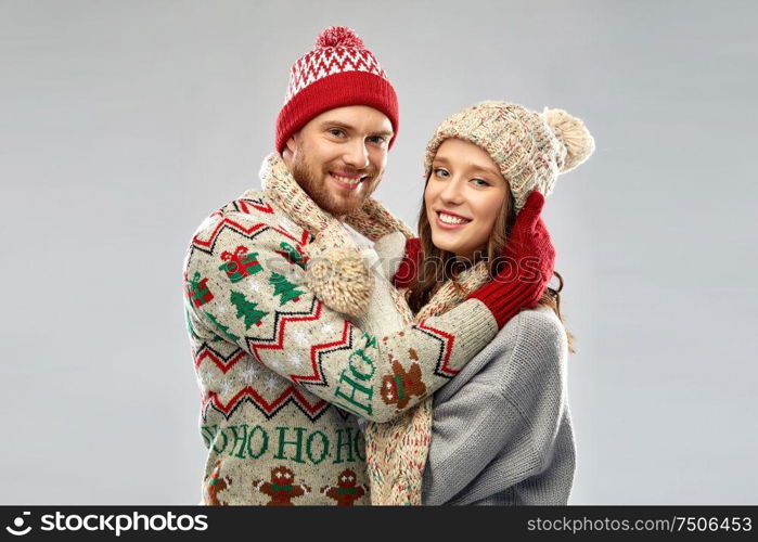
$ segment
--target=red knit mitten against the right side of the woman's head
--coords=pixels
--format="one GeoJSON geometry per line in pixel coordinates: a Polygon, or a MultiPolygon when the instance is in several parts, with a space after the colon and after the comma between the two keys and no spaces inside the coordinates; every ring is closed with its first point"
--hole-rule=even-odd
{"type": "Polygon", "coordinates": [[[544,196],[535,191],[516,217],[503,256],[506,264],[468,299],[479,299],[502,328],[522,309],[532,308],[553,276],[555,248],[540,212],[544,196]]]}

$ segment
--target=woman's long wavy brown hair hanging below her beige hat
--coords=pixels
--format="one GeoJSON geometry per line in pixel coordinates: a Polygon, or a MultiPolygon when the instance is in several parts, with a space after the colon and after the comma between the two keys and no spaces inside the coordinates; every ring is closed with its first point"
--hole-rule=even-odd
{"type": "MultiPolygon", "coordinates": [[[[428,178],[426,179],[428,183],[428,178]]],[[[424,188],[426,190],[426,188],[424,188]]],[[[508,191],[505,205],[498,214],[498,218],[492,225],[489,241],[487,242],[487,254],[479,254],[478,258],[487,258],[489,266],[489,276],[494,276],[498,272],[497,266],[500,260],[499,256],[503,254],[505,244],[508,243],[508,234],[516,220],[516,212],[513,206],[513,197],[511,191],[508,191]]],[[[458,272],[455,255],[448,250],[442,250],[432,242],[432,225],[426,216],[425,199],[421,201],[421,211],[419,212],[419,241],[421,244],[421,264],[416,270],[415,276],[408,291],[408,305],[414,314],[416,314],[424,305],[428,304],[432,296],[448,280],[455,279],[458,272]]],[[[475,257],[476,258],[476,257],[475,257]]],[[[502,260],[501,260],[502,261],[502,260]]],[[[555,276],[558,279],[557,289],[547,287],[539,300],[539,305],[550,307],[561,320],[561,323],[566,330],[568,338],[568,351],[574,353],[574,335],[566,328],[566,324],[561,315],[561,291],[563,289],[563,276],[555,271],[555,276]]],[[[453,282],[454,284],[454,282],[453,282]]],[[[462,287],[461,287],[461,293],[462,287]]]]}

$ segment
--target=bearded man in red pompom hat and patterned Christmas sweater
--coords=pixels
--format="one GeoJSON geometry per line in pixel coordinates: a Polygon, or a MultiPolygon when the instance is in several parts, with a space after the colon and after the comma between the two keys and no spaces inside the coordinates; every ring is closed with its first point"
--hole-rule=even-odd
{"type": "Polygon", "coordinates": [[[185,313],[206,504],[369,504],[357,416],[407,412],[488,344],[525,294],[542,292],[540,281],[493,285],[385,337],[358,328],[349,307],[319,299],[311,249],[354,243],[337,218],[377,205],[369,196],[397,130],[397,98],[376,59],[352,30],[324,30],[292,67],[265,190],[245,192],[195,233],[185,313]],[[413,395],[382,391],[389,383],[402,395],[407,375],[413,395]]]}

